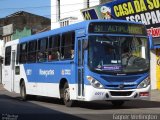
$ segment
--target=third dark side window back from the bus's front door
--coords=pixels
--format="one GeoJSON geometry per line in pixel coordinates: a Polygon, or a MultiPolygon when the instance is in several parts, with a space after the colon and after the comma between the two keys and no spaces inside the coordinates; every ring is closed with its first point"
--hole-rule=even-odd
{"type": "Polygon", "coordinates": [[[48,38],[43,38],[38,41],[37,61],[45,62],[47,60],[47,44],[48,38]]]}

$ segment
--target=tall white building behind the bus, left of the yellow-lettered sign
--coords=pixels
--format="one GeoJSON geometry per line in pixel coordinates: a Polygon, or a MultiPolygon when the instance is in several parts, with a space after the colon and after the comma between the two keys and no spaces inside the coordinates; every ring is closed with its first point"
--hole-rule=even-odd
{"type": "Polygon", "coordinates": [[[83,21],[81,9],[99,4],[100,0],[51,0],[51,29],[83,21]]]}

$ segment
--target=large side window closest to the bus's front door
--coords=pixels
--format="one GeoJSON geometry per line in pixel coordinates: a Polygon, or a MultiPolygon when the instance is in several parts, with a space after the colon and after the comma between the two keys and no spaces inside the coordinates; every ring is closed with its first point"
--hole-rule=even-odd
{"type": "Polygon", "coordinates": [[[74,58],[75,32],[68,32],[62,35],[61,54],[64,59],[74,58]]]}

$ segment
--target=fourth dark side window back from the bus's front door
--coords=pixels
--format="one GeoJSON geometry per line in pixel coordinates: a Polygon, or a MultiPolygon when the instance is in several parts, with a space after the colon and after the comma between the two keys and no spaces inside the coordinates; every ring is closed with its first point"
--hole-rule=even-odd
{"type": "Polygon", "coordinates": [[[36,51],[37,50],[37,41],[30,41],[28,44],[28,62],[34,63],[36,62],[36,51]]]}

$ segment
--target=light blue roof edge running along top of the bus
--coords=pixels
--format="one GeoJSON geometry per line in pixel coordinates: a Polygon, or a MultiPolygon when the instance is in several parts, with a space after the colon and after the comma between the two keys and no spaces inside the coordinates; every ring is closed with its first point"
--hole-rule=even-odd
{"type": "Polygon", "coordinates": [[[68,26],[65,26],[65,27],[62,27],[62,28],[57,28],[57,29],[53,29],[53,30],[49,30],[49,31],[46,31],[46,32],[37,33],[35,35],[31,35],[31,36],[28,36],[28,37],[21,38],[20,43],[35,40],[35,39],[39,39],[39,38],[44,38],[44,37],[48,37],[48,36],[52,36],[52,35],[55,35],[55,34],[68,32],[68,31],[72,31],[72,30],[84,29],[91,22],[122,22],[122,23],[133,23],[133,24],[143,25],[142,23],[139,23],[139,22],[126,21],[126,20],[115,20],[115,19],[112,19],[112,20],[97,20],[97,19],[96,20],[86,20],[86,21],[75,23],[75,24],[72,24],[72,25],[68,25],[68,26]]]}

